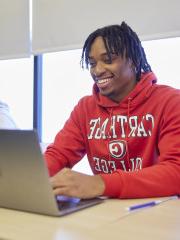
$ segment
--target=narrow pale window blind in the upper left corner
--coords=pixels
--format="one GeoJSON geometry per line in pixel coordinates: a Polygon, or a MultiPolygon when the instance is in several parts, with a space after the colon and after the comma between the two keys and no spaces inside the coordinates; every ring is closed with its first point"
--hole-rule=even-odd
{"type": "Polygon", "coordinates": [[[0,0],[0,59],[30,56],[29,0],[0,0]]]}

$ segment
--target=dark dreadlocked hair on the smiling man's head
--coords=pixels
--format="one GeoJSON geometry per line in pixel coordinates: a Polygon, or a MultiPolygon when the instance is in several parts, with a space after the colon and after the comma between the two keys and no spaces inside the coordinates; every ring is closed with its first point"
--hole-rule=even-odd
{"type": "Polygon", "coordinates": [[[81,55],[81,67],[89,69],[89,53],[91,45],[95,38],[101,36],[107,51],[110,62],[111,54],[124,56],[130,59],[135,67],[136,80],[140,80],[141,73],[151,72],[151,66],[147,62],[146,54],[141,45],[137,34],[125,23],[121,25],[110,25],[103,28],[99,28],[92,32],[86,39],[82,55],[81,55]]]}

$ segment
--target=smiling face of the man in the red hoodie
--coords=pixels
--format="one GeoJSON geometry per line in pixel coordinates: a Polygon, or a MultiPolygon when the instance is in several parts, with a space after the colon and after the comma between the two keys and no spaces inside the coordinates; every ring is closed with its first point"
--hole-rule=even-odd
{"type": "Polygon", "coordinates": [[[97,37],[89,53],[91,76],[100,94],[120,102],[136,85],[136,75],[130,60],[115,54],[111,58],[110,62],[102,37],[97,37]]]}

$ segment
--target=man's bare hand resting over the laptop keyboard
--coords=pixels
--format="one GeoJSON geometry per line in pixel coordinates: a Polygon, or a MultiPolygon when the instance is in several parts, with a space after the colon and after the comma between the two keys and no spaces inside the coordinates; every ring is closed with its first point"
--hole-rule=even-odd
{"type": "Polygon", "coordinates": [[[55,195],[85,199],[101,196],[105,189],[101,176],[90,176],[69,168],[62,169],[50,181],[55,195]]]}

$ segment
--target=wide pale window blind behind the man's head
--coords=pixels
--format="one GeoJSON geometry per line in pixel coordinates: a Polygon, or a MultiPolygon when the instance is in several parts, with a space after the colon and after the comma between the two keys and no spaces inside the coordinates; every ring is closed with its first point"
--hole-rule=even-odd
{"type": "Polygon", "coordinates": [[[34,54],[82,48],[98,27],[127,22],[141,40],[180,36],[179,0],[33,0],[34,54]]]}

